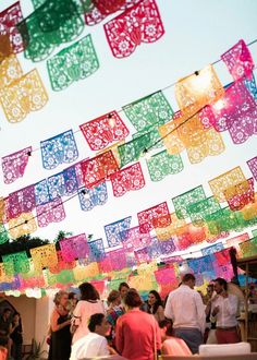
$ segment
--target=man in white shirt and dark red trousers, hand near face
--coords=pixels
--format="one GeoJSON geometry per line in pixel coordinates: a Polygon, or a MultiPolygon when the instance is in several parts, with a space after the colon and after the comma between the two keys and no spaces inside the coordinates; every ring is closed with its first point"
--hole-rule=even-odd
{"type": "Polygon", "coordinates": [[[218,277],[215,280],[215,296],[207,304],[210,307],[210,316],[216,321],[216,337],[218,344],[234,344],[240,341],[237,334],[236,314],[238,298],[228,293],[228,283],[218,277]]]}

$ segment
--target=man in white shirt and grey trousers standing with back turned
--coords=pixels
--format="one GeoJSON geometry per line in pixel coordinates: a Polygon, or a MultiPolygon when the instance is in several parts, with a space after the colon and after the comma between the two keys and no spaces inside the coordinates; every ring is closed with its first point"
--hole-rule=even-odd
{"type": "Polygon", "coordinates": [[[184,275],[182,285],[168,297],[164,315],[173,321],[174,335],[182,338],[193,353],[197,353],[203,344],[206,315],[203,299],[194,287],[195,276],[184,275]]]}

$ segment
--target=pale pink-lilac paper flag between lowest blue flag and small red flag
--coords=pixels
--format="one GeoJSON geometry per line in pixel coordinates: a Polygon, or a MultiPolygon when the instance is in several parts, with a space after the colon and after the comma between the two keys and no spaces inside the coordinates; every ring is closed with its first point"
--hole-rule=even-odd
{"type": "Polygon", "coordinates": [[[150,244],[151,237],[149,232],[143,233],[139,226],[120,232],[122,245],[125,252],[145,248],[150,244]]]}

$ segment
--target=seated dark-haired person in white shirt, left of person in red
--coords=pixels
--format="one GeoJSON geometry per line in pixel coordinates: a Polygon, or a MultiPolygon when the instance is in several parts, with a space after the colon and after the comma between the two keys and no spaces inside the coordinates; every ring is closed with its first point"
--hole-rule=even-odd
{"type": "Polygon", "coordinates": [[[94,314],[88,324],[89,332],[73,344],[70,360],[91,359],[110,355],[106,335],[110,333],[110,325],[103,314],[94,314]]]}

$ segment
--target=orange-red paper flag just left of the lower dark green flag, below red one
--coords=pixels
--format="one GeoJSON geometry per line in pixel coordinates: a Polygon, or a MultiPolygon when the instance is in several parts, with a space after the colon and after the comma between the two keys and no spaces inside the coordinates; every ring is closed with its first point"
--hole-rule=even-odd
{"type": "Polygon", "coordinates": [[[102,182],[111,173],[119,170],[117,160],[111,151],[82,161],[81,167],[85,185],[88,189],[102,182]]]}

